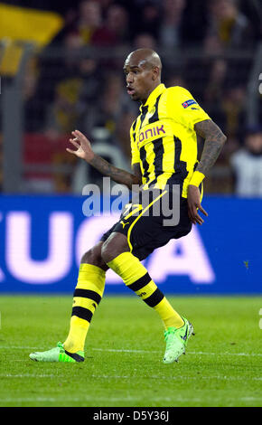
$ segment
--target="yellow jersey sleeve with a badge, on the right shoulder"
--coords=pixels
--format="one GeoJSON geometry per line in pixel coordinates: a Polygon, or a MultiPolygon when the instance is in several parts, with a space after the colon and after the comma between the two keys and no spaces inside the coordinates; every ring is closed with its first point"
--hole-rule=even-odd
{"type": "Polygon", "coordinates": [[[210,116],[201,109],[199,103],[192,97],[190,91],[182,87],[169,88],[167,94],[168,115],[182,123],[184,127],[193,129],[197,122],[211,119],[210,116]]]}

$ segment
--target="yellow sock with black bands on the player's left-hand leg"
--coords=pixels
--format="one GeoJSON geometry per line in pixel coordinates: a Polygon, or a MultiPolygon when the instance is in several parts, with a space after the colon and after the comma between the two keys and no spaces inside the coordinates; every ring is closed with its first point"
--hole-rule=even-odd
{"type": "Polygon", "coordinates": [[[84,351],[91,318],[103,297],[106,272],[91,264],[81,264],[78,284],[74,291],[70,318],[70,333],[64,342],[70,353],[84,351]]]}

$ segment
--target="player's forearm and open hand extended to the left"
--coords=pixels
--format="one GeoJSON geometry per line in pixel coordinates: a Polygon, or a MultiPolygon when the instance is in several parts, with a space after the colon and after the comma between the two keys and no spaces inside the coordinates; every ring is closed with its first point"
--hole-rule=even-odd
{"type": "Polygon", "coordinates": [[[66,150],[70,152],[70,154],[74,154],[75,156],[84,159],[87,163],[89,163],[89,165],[92,165],[100,173],[102,173],[102,175],[111,177],[112,180],[119,184],[125,184],[129,189],[131,189],[132,184],[142,183],[141,172],[139,174],[138,171],[138,166],[140,170],[139,164],[135,164],[136,166],[134,165],[135,175],[132,175],[125,170],[117,168],[117,166],[109,164],[108,161],[103,159],[101,156],[96,155],[91,148],[89,139],[79,130],[72,131],[72,135],[74,138],[70,138],[70,143],[75,146],[77,150],[72,150],[67,147],[66,150]]]}

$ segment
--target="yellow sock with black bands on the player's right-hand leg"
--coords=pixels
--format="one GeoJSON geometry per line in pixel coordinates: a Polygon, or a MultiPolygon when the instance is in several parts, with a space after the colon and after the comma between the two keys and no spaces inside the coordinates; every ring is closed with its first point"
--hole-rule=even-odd
{"type": "Polygon", "coordinates": [[[164,327],[181,327],[184,325],[182,317],[173,309],[164,294],[157,288],[141,262],[131,253],[123,252],[116,259],[108,262],[108,267],[120,276],[127,288],[136,292],[147,306],[153,307],[161,317],[164,327]]]}

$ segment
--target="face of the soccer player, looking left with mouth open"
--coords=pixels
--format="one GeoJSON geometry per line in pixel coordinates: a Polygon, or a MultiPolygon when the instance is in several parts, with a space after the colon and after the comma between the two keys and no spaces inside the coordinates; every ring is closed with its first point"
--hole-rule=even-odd
{"type": "Polygon", "coordinates": [[[127,93],[133,100],[145,103],[154,85],[154,71],[145,61],[127,57],[124,65],[127,93]]]}

